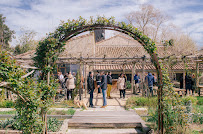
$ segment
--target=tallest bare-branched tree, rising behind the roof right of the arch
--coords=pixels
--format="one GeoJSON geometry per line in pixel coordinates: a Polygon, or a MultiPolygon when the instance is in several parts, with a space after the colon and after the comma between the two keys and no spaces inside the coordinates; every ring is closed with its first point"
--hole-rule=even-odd
{"type": "Polygon", "coordinates": [[[160,27],[169,19],[169,16],[152,5],[141,5],[138,11],[127,14],[126,19],[156,41],[160,27]]]}

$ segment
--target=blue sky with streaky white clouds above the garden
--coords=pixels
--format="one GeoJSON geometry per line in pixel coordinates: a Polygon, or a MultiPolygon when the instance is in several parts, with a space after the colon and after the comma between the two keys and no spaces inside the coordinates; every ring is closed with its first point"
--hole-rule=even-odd
{"type": "Polygon", "coordinates": [[[11,42],[15,46],[22,28],[35,31],[36,39],[41,39],[53,32],[61,20],[104,15],[126,21],[125,15],[143,4],[151,4],[171,16],[172,23],[189,34],[198,48],[203,47],[203,0],[0,0],[0,14],[16,32],[16,39],[11,42]]]}

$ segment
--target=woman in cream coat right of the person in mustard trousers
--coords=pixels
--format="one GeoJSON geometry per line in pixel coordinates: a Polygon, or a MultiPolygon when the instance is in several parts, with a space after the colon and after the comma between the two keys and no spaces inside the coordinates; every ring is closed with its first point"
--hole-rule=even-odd
{"type": "Polygon", "coordinates": [[[123,98],[125,99],[125,78],[124,78],[124,75],[123,73],[120,74],[120,77],[118,78],[118,81],[117,81],[117,85],[118,85],[118,89],[120,90],[120,98],[123,98]]]}

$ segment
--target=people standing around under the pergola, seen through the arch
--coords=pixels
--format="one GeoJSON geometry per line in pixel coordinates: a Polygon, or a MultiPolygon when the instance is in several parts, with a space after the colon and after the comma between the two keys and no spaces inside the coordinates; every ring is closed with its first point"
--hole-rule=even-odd
{"type": "MultiPolygon", "coordinates": [[[[62,72],[58,72],[58,79],[59,83],[61,84],[62,88],[65,89],[66,91],[66,99],[72,99],[73,98],[73,91],[75,89],[76,85],[76,77],[75,73],[73,74],[71,72],[68,72],[63,76],[62,72]]],[[[123,73],[120,74],[118,81],[117,81],[117,88],[120,91],[120,98],[125,99],[125,93],[126,93],[126,81],[127,77],[123,73]]],[[[139,83],[140,83],[140,77],[136,73],[134,76],[134,81],[136,85],[136,89],[139,89],[139,83]]],[[[151,74],[148,73],[148,75],[145,77],[145,81],[148,85],[148,89],[150,90],[150,94],[153,96],[153,85],[155,83],[155,77],[151,74]]],[[[111,97],[111,89],[112,89],[112,76],[111,72],[106,72],[104,71],[97,71],[96,74],[96,86],[94,83],[94,73],[89,72],[89,76],[87,78],[87,89],[88,93],[90,94],[90,99],[89,99],[89,107],[94,108],[93,105],[93,93],[95,89],[98,89],[98,94],[102,93],[103,95],[103,106],[101,108],[107,107],[107,98],[112,99],[111,97]]],[[[140,89],[139,89],[140,92],[140,89]]]]}

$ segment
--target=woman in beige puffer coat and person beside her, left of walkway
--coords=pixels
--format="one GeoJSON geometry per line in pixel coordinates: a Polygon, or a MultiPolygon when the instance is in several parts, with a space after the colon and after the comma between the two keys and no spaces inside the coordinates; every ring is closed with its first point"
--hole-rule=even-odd
{"type": "Polygon", "coordinates": [[[65,99],[70,100],[73,98],[73,91],[75,89],[76,84],[76,77],[75,73],[73,74],[71,72],[66,73],[64,76],[62,72],[58,72],[58,79],[59,83],[61,84],[61,87],[65,89],[66,97],[65,99]]]}

